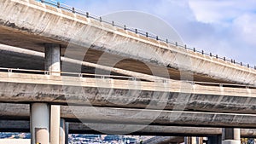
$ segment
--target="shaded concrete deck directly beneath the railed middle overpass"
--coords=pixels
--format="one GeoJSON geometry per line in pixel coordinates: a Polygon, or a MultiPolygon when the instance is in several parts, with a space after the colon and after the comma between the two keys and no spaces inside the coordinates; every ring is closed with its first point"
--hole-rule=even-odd
{"type": "MultiPolygon", "coordinates": [[[[3,105],[4,106],[4,105],[3,105]]],[[[5,104],[8,107],[8,104],[5,104]]],[[[19,106],[20,107],[20,106],[19,106]]],[[[29,119],[29,111],[15,107],[0,107],[2,119],[29,119]],[[21,113],[21,114],[20,114],[21,113]]],[[[137,125],[181,125],[209,127],[255,128],[256,115],[217,112],[178,112],[142,110],[111,107],[61,107],[61,118],[67,122],[98,123],[98,124],[137,124],[137,125]],[[151,123],[152,122],[152,123],[151,123]]],[[[129,128],[129,127],[128,127],[129,128]]],[[[127,128],[127,129],[128,129],[127,128]]],[[[136,130],[137,127],[131,127],[136,130]]],[[[133,129],[133,130],[134,130],[133,129]]]]}

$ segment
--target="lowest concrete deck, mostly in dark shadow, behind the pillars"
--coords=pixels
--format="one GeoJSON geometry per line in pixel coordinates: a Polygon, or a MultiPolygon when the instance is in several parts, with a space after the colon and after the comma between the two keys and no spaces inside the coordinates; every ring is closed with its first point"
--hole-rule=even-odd
{"type": "MultiPolygon", "coordinates": [[[[69,122],[69,134],[101,134],[101,132],[91,129],[105,128],[108,134],[127,134],[124,124],[89,124],[69,122]]],[[[0,132],[30,132],[28,120],[0,120],[0,132]]],[[[126,125],[131,127],[132,125],[126,125]]],[[[137,126],[137,125],[134,125],[137,126]]],[[[138,125],[141,127],[141,125],[138,125]]],[[[143,130],[138,130],[131,135],[168,135],[168,136],[211,136],[221,135],[222,128],[207,127],[183,127],[183,126],[159,126],[148,125],[143,130]]],[[[255,129],[241,129],[241,137],[256,137],[255,129]]]]}

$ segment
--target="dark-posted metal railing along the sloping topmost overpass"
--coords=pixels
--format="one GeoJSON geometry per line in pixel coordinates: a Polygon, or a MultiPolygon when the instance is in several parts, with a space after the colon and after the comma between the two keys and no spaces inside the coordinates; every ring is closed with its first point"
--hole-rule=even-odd
{"type": "Polygon", "coordinates": [[[183,48],[183,49],[188,49],[190,51],[194,51],[195,53],[199,53],[201,55],[207,55],[207,56],[210,56],[210,57],[214,57],[216,59],[220,59],[220,60],[224,60],[224,61],[229,61],[233,64],[236,64],[236,65],[240,65],[240,66],[247,66],[248,68],[253,68],[256,70],[256,66],[251,66],[249,64],[246,64],[246,63],[242,63],[242,62],[238,62],[234,59],[228,59],[224,56],[219,56],[219,55],[213,55],[212,53],[209,53],[207,54],[204,50],[198,50],[198,49],[195,49],[195,48],[189,48],[186,44],[185,45],[181,45],[177,42],[172,42],[172,41],[169,41],[168,38],[166,39],[162,39],[161,37],[159,36],[156,36],[154,34],[151,34],[149,32],[144,32],[143,30],[139,30],[139,29],[136,29],[136,28],[130,28],[130,27],[127,27],[126,25],[122,25],[122,24],[119,24],[115,21],[111,21],[111,20],[103,20],[101,16],[96,16],[94,14],[89,14],[88,12],[84,11],[84,10],[81,10],[81,9],[75,9],[74,7],[71,7],[71,6],[68,6],[66,4],[63,4],[63,3],[59,3],[59,2],[56,2],[55,0],[36,0],[38,2],[41,2],[41,3],[46,3],[50,6],[54,6],[58,9],[63,9],[63,10],[67,10],[69,12],[72,12],[74,14],[79,14],[79,15],[82,15],[84,17],[87,17],[87,18],[91,18],[91,19],[94,19],[94,20],[99,20],[100,22],[104,22],[108,25],[111,25],[111,26],[116,26],[116,27],[119,27],[121,29],[124,29],[125,31],[129,31],[129,32],[134,32],[138,35],[141,35],[141,36],[144,36],[144,37],[149,37],[149,38],[152,38],[152,39],[155,39],[157,41],[160,41],[160,42],[164,42],[164,43],[168,43],[168,44],[171,44],[172,46],[177,46],[177,47],[180,47],[180,48],[183,48]]]}

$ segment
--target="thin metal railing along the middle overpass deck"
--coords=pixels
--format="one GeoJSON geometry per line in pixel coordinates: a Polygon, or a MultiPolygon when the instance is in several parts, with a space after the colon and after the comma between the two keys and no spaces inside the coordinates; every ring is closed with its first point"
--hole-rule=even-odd
{"type": "MultiPolygon", "coordinates": [[[[0,67],[0,72],[15,72],[15,73],[30,73],[30,74],[41,74],[41,75],[49,75],[50,73],[58,73],[61,76],[72,76],[72,77],[79,77],[79,78],[102,78],[102,79],[125,79],[131,81],[141,81],[143,77],[129,77],[129,76],[116,76],[116,75],[103,75],[103,74],[95,74],[95,73],[79,73],[79,72],[51,72],[51,71],[43,71],[43,70],[29,70],[29,69],[20,69],[20,68],[5,68],[0,67]]],[[[173,83],[175,80],[172,79],[158,79],[154,78],[152,81],[154,83],[173,83]]],[[[224,83],[212,83],[212,82],[200,82],[200,81],[189,81],[189,80],[179,80],[180,82],[187,83],[187,84],[200,84],[200,85],[209,85],[209,86],[219,86],[219,87],[242,87],[242,88],[256,88],[256,85],[253,84],[224,84],[224,83]]]]}

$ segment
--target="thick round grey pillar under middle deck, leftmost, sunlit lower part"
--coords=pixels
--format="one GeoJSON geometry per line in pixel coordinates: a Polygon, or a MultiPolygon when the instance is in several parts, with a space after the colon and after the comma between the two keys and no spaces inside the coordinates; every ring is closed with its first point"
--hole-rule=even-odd
{"type": "Polygon", "coordinates": [[[30,111],[31,143],[49,144],[49,105],[32,103],[30,111]]]}

